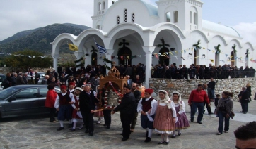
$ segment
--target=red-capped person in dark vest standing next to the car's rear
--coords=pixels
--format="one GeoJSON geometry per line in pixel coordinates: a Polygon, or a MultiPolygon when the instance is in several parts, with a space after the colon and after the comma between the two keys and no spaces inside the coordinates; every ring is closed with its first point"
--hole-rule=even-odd
{"type": "Polygon", "coordinates": [[[70,106],[72,103],[71,98],[73,98],[74,96],[73,93],[69,93],[68,91],[66,91],[66,85],[62,85],[60,89],[62,90],[62,92],[58,93],[55,100],[55,104],[54,104],[54,107],[56,108],[56,110],[59,111],[58,120],[59,120],[60,127],[59,129],[57,129],[57,131],[64,129],[65,118],[69,120],[69,125],[72,122],[70,106]]]}

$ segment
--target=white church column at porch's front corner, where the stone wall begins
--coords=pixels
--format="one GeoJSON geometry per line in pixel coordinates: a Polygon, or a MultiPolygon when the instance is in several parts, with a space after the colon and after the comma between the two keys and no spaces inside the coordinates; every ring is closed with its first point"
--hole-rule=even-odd
{"type": "Polygon", "coordinates": [[[144,86],[149,88],[149,78],[151,78],[151,65],[152,65],[152,52],[155,50],[155,46],[142,46],[146,53],[146,69],[145,69],[145,83],[144,86]]]}

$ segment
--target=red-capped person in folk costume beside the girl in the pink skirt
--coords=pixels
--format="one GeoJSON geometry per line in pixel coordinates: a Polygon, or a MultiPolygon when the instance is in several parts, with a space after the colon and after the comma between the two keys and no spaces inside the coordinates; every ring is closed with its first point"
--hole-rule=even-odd
{"type": "Polygon", "coordinates": [[[145,98],[141,98],[137,111],[141,112],[141,127],[146,129],[146,140],[150,142],[153,133],[153,119],[156,113],[157,102],[151,97],[153,89],[145,90],[145,98]]]}

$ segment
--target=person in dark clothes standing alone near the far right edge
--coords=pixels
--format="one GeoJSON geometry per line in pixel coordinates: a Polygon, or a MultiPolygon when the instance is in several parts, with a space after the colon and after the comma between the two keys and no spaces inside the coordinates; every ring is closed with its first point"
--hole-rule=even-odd
{"type": "Polygon", "coordinates": [[[248,112],[248,103],[249,103],[249,97],[250,93],[246,90],[246,86],[242,87],[242,91],[239,93],[238,98],[242,106],[243,114],[246,114],[248,112]]]}

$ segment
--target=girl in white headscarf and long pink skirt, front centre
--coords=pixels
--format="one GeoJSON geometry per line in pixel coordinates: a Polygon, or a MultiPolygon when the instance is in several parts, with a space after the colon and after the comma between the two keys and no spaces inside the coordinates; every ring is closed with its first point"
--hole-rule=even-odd
{"type": "Polygon", "coordinates": [[[156,115],[153,128],[161,134],[162,141],[158,144],[169,144],[169,134],[175,131],[176,110],[173,101],[170,101],[167,91],[159,90],[157,96],[156,115]]]}

